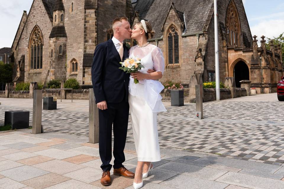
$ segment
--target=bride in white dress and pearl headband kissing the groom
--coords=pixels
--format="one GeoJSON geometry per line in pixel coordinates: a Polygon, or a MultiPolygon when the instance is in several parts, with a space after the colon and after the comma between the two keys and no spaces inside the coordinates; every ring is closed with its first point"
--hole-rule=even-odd
{"type": "Polygon", "coordinates": [[[133,182],[135,189],[143,186],[143,178],[148,177],[149,170],[153,169],[151,162],[161,160],[157,112],[167,111],[159,94],[164,86],[156,81],[163,76],[165,67],[163,53],[160,48],[147,42],[154,33],[151,24],[141,20],[134,26],[131,36],[138,45],[130,48],[129,51],[129,56],[141,58],[144,66],[141,71],[131,74],[129,81],[128,102],[138,157],[133,182]],[[155,72],[147,73],[148,69],[154,69],[155,72]],[[134,84],[135,78],[138,79],[138,84],[134,84]]]}

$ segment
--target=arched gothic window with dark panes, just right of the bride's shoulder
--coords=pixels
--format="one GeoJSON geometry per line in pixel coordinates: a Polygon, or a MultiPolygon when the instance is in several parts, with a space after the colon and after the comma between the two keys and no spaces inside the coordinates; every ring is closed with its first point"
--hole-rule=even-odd
{"type": "Polygon", "coordinates": [[[178,30],[175,26],[171,26],[168,31],[168,63],[179,63],[179,44],[178,44],[178,30]]]}

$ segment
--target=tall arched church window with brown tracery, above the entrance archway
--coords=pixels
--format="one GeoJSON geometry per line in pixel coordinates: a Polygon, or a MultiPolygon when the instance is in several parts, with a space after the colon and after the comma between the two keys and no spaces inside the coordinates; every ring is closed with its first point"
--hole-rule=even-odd
{"type": "Polygon", "coordinates": [[[230,2],[227,9],[226,31],[229,45],[239,45],[241,27],[238,11],[233,0],[230,2]]]}

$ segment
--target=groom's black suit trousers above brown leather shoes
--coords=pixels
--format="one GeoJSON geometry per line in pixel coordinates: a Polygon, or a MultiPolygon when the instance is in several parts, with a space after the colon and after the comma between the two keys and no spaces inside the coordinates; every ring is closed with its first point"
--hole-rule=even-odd
{"type": "Polygon", "coordinates": [[[110,170],[112,159],[112,124],[113,124],[113,168],[122,167],[125,161],[124,147],[127,135],[129,116],[128,102],[107,103],[106,110],[99,110],[99,151],[102,161],[101,169],[110,170]]]}

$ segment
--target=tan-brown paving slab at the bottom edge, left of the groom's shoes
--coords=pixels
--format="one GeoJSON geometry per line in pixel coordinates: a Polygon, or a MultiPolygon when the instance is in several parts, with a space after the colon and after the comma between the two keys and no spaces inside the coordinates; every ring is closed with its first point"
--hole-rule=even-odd
{"type": "Polygon", "coordinates": [[[70,180],[70,178],[64,177],[62,175],[57,175],[54,173],[49,173],[46,175],[22,181],[21,183],[31,186],[35,189],[43,189],[49,186],[56,185],[58,183],[65,182],[67,180],[70,180]]]}

